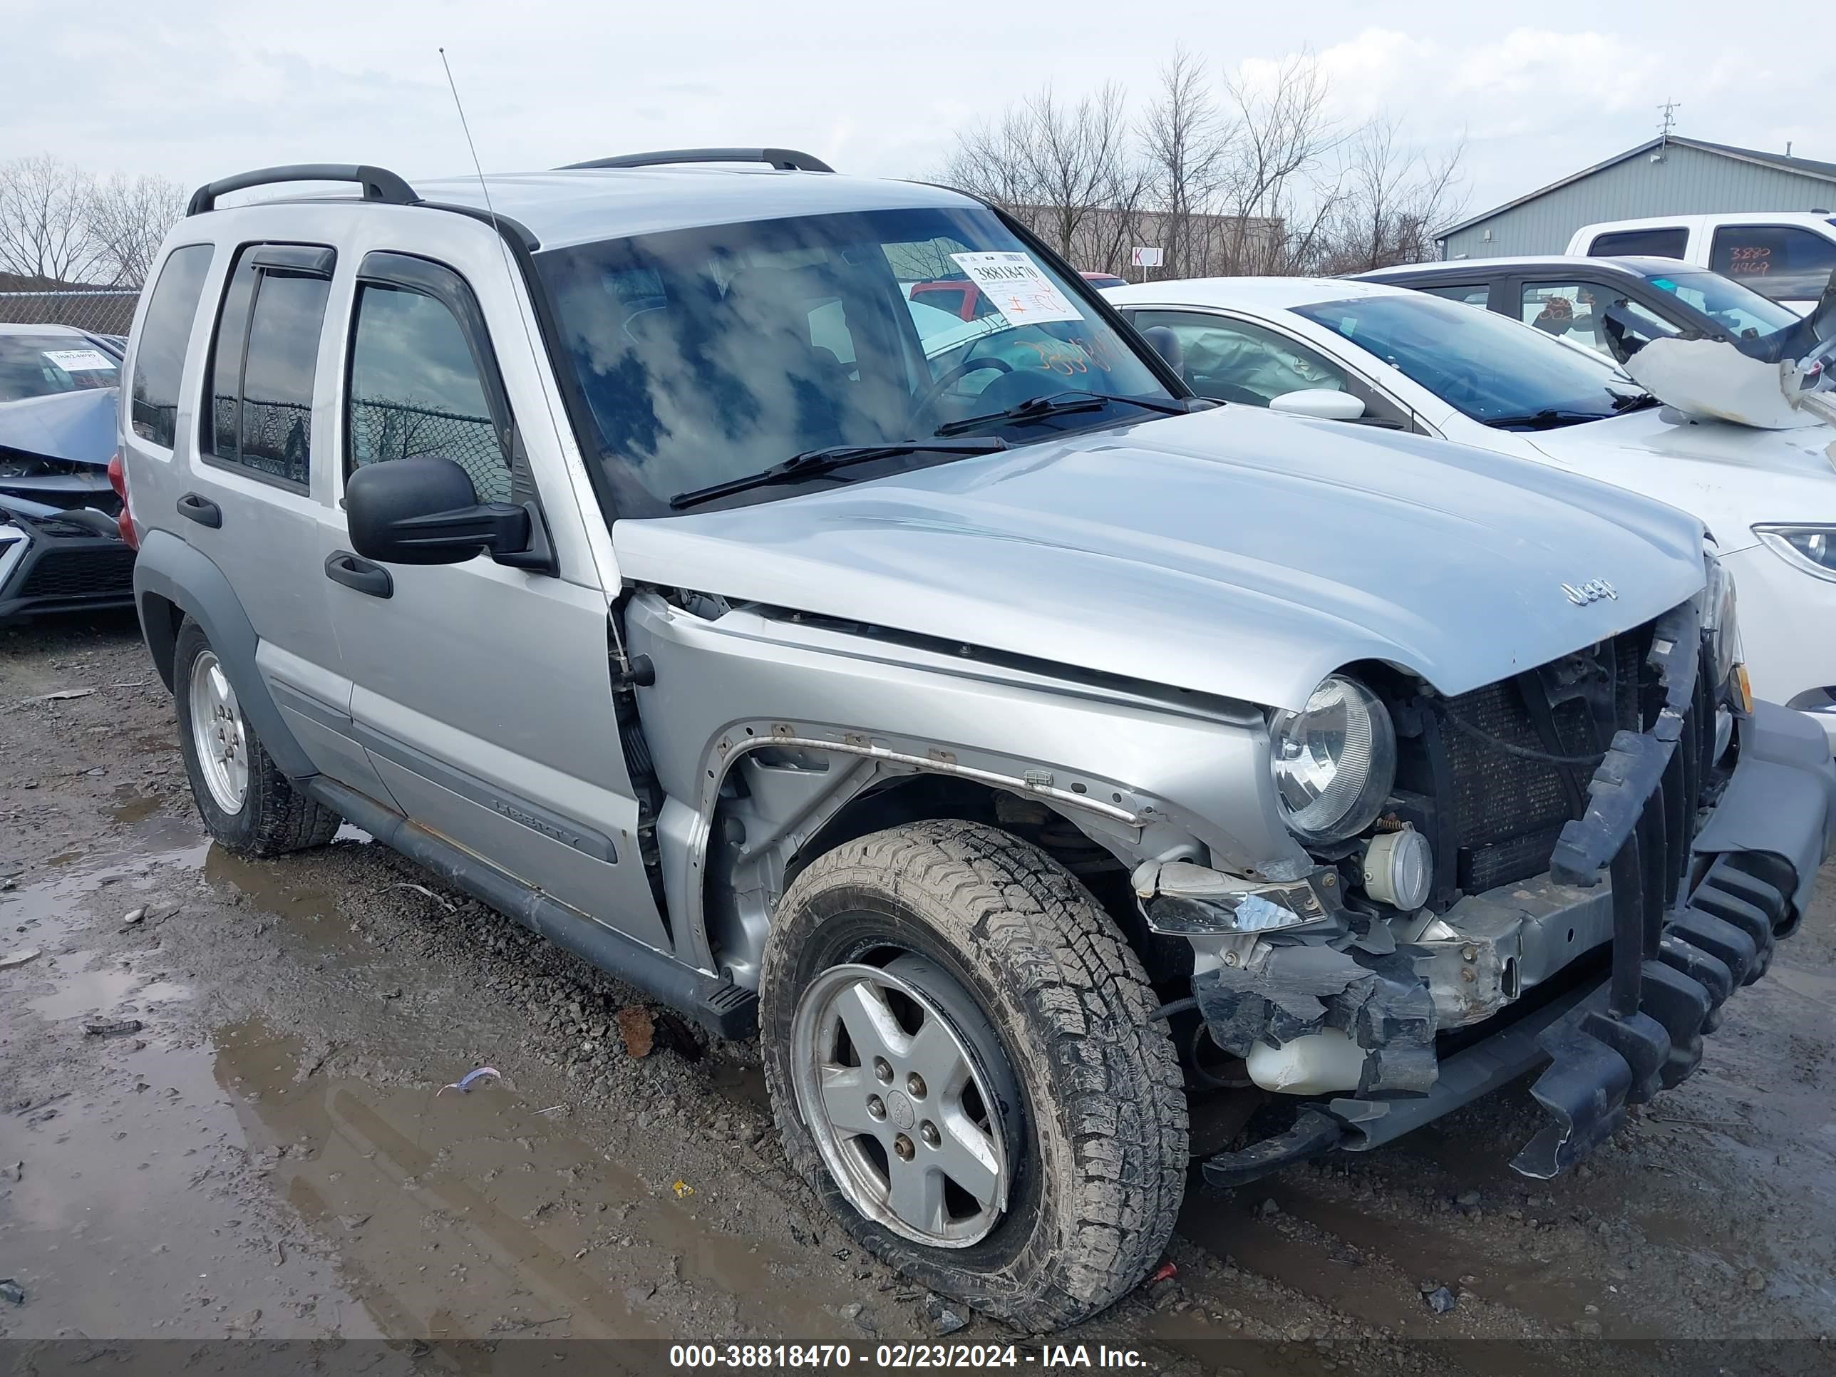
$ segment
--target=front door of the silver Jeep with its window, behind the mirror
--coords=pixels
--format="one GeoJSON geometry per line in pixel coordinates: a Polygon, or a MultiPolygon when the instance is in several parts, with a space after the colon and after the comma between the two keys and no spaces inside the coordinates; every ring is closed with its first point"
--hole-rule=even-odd
{"type": "MultiPolygon", "coordinates": [[[[466,277],[371,252],[340,305],[340,520],[343,481],[362,465],[444,455],[481,501],[545,507],[551,538],[578,545],[571,492],[543,490],[527,459],[525,444],[549,450],[551,474],[560,463],[547,411],[540,397],[505,387],[466,277]]],[[[520,323],[499,338],[520,343],[520,323]]],[[[485,554],[369,565],[341,531],[334,540],[321,593],[353,681],[351,716],[402,812],[582,914],[670,949],[639,854],[597,582],[485,554]]]]}

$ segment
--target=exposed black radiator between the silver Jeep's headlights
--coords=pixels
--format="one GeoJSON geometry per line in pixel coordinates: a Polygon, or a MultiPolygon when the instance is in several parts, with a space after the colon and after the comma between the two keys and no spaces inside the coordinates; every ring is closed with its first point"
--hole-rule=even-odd
{"type": "MultiPolygon", "coordinates": [[[[1562,824],[1586,804],[1594,764],[1559,766],[1520,753],[1597,758],[1614,731],[1643,731],[1658,692],[1645,663],[1649,648],[1651,626],[1641,626],[1439,705],[1450,795],[1443,835],[1458,848],[1454,883],[1461,890],[1476,894],[1550,868],[1562,824]],[[1542,700],[1537,711],[1531,696],[1542,700]]],[[[1685,740],[1700,731],[1700,707],[1691,716],[1696,723],[1685,740]]]]}

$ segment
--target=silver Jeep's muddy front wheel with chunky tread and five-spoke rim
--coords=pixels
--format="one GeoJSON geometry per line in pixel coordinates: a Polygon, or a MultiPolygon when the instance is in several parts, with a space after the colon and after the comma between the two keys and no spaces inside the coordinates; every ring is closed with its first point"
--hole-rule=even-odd
{"type": "Polygon", "coordinates": [[[784,1151],[920,1285],[1036,1333],[1076,1324],[1153,1267],[1184,1192],[1186,1098],[1155,1004],[1122,933],[1039,848],[958,821],[850,841],[797,876],[766,944],[784,1151]],[[933,1069],[949,1083],[918,1076],[933,1069]]]}

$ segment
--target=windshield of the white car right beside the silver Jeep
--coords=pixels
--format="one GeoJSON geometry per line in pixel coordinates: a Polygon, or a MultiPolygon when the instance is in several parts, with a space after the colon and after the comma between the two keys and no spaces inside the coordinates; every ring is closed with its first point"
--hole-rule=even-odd
{"type": "Polygon", "coordinates": [[[1498,430],[1555,430],[1649,404],[1605,360],[1419,292],[1293,310],[1498,430]]]}

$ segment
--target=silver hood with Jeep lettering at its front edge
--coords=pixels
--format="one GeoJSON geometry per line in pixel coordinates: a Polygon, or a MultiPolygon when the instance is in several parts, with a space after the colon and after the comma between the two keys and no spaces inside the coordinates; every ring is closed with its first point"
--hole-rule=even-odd
{"type": "Polygon", "coordinates": [[[1702,527],[1531,461],[1245,406],[692,516],[624,580],[1272,707],[1388,661],[1443,694],[1702,586],[1702,527]],[[1564,591],[1603,580],[1614,597],[1564,591]]]}

